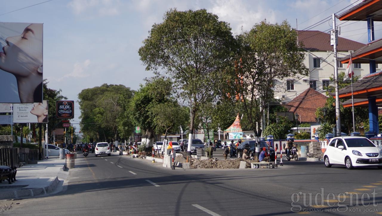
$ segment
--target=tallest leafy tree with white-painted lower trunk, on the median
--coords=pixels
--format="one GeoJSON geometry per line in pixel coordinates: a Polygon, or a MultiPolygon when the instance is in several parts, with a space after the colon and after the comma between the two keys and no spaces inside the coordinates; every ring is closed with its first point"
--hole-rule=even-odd
{"type": "Polygon", "coordinates": [[[200,106],[221,95],[217,89],[227,80],[224,72],[234,42],[228,23],[216,15],[204,9],[172,9],[165,13],[163,23],[152,26],[139,48],[146,70],[170,79],[178,89],[176,98],[189,106],[189,142],[200,106]]]}

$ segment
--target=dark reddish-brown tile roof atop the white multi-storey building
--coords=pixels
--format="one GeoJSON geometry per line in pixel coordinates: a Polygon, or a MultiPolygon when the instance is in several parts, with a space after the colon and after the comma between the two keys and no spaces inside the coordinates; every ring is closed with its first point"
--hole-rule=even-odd
{"type": "MultiPolygon", "coordinates": [[[[330,34],[321,31],[297,31],[298,41],[302,41],[304,48],[309,51],[328,51],[333,50],[330,46],[330,34]]],[[[358,50],[365,44],[338,37],[338,51],[358,50]]]]}

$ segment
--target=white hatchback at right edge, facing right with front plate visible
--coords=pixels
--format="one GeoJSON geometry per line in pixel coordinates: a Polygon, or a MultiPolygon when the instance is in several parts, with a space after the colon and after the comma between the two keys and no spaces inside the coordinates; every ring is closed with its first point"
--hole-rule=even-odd
{"type": "Polygon", "coordinates": [[[326,148],[324,162],[326,167],[338,164],[348,169],[357,166],[377,166],[382,169],[382,150],[366,137],[334,137],[326,148]]]}

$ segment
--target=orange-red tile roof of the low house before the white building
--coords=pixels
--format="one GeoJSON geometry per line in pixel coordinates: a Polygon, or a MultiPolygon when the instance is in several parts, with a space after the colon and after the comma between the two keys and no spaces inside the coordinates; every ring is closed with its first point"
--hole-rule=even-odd
{"type": "Polygon", "coordinates": [[[314,89],[308,88],[286,104],[290,112],[299,114],[301,122],[316,122],[317,108],[324,107],[327,97],[314,89]]]}

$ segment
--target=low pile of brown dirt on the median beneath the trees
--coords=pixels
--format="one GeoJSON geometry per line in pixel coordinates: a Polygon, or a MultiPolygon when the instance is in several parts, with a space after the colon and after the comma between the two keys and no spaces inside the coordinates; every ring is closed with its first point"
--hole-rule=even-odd
{"type": "MultiPolygon", "coordinates": [[[[190,168],[207,168],[207,169],[238,169],[240,166],[240,161],[246,161],[241,158],[236,158],[235,160],[217,160],[216,158],[208,160],[196,160],[193,159],[190,168]]],[[[246,168],[251,168],[249,161],[247,162],[246,168]]]]}

